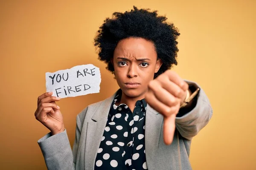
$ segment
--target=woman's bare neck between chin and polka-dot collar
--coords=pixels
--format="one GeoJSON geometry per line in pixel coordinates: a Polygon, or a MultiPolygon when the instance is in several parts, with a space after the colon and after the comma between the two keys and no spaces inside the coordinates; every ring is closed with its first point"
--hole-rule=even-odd
{"type": "Polygon", "coordinates": [[[136,102],[138,100],[144,99],[145,95],[146,95],[146,93],[143,93],[140,96],[130,97],[130,96],[127,96],[124,92],[122,92],[122,97],[121,97],[121,100],[119,101],[118,105],[121,103],[124,103],[124,104],[128,105],[128,107],[131,109],[131,112],[133,112],[136,102]]]}

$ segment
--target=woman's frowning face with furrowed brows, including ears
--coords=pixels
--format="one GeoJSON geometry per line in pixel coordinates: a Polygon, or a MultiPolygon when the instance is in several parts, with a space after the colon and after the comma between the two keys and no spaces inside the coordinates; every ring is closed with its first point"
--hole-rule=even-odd
{"type": "Polygon", "coordinates": [[[129,97],[143,96],[162,65],[153,42],[133,37],[118,42],[111,62],[119,87],[129,97]]]}

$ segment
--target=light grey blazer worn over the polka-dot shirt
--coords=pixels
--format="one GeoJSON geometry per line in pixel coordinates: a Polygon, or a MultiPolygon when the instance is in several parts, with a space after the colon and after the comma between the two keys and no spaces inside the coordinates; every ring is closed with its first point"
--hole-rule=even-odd
{"type": "MultiPolygon", "coordinates": [[[[185,81],[188,84],[195,83],[185,81]]],[[[88,105],[76,116],[76,139],[73,149],[70,147],[66,130],[53,136],[48,133],[38,140],[49,170],[94,169],[97,151],[115,94],[103,101],[88,105]]],[[[199,91],[195,108],[182,117],[176,117],[176,129],[171,145],[163,142],[162,114],[148,105],[145,115],[145,154],[148,169],[192,170],[189,162],[192,137],[198,134],[212,117],[212,107],[203,89],[199,91]]]]}

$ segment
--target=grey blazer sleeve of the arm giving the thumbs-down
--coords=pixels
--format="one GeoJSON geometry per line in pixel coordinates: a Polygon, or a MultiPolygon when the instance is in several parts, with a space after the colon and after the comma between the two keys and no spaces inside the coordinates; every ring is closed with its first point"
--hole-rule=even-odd
{"type": "Polygon", "coordinates": [[[188,84],[195,83],[200,91],[195,107],[181,117],[176,117],[175,125],[180,135],[191,140],[198,132],[207,125],[212,117],[212,106],[204,90],[193,81],[186,80],[188,84]]]}

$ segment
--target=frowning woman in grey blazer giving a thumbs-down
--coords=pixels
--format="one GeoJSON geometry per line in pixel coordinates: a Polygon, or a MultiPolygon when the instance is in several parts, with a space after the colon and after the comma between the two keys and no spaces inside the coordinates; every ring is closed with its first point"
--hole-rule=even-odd
{"type": "Polygon", "coordinates": [[[38,97],[35,117],[51,131],[38,140],[49,170],[192,169],[191,140],[212,107],[196,82],[170,70],[180,33],[166,19],[134,6],[104,21],[95,46],[120,88],[77,115],[73,149],[60,99],[52,92],[38,97]]]}

